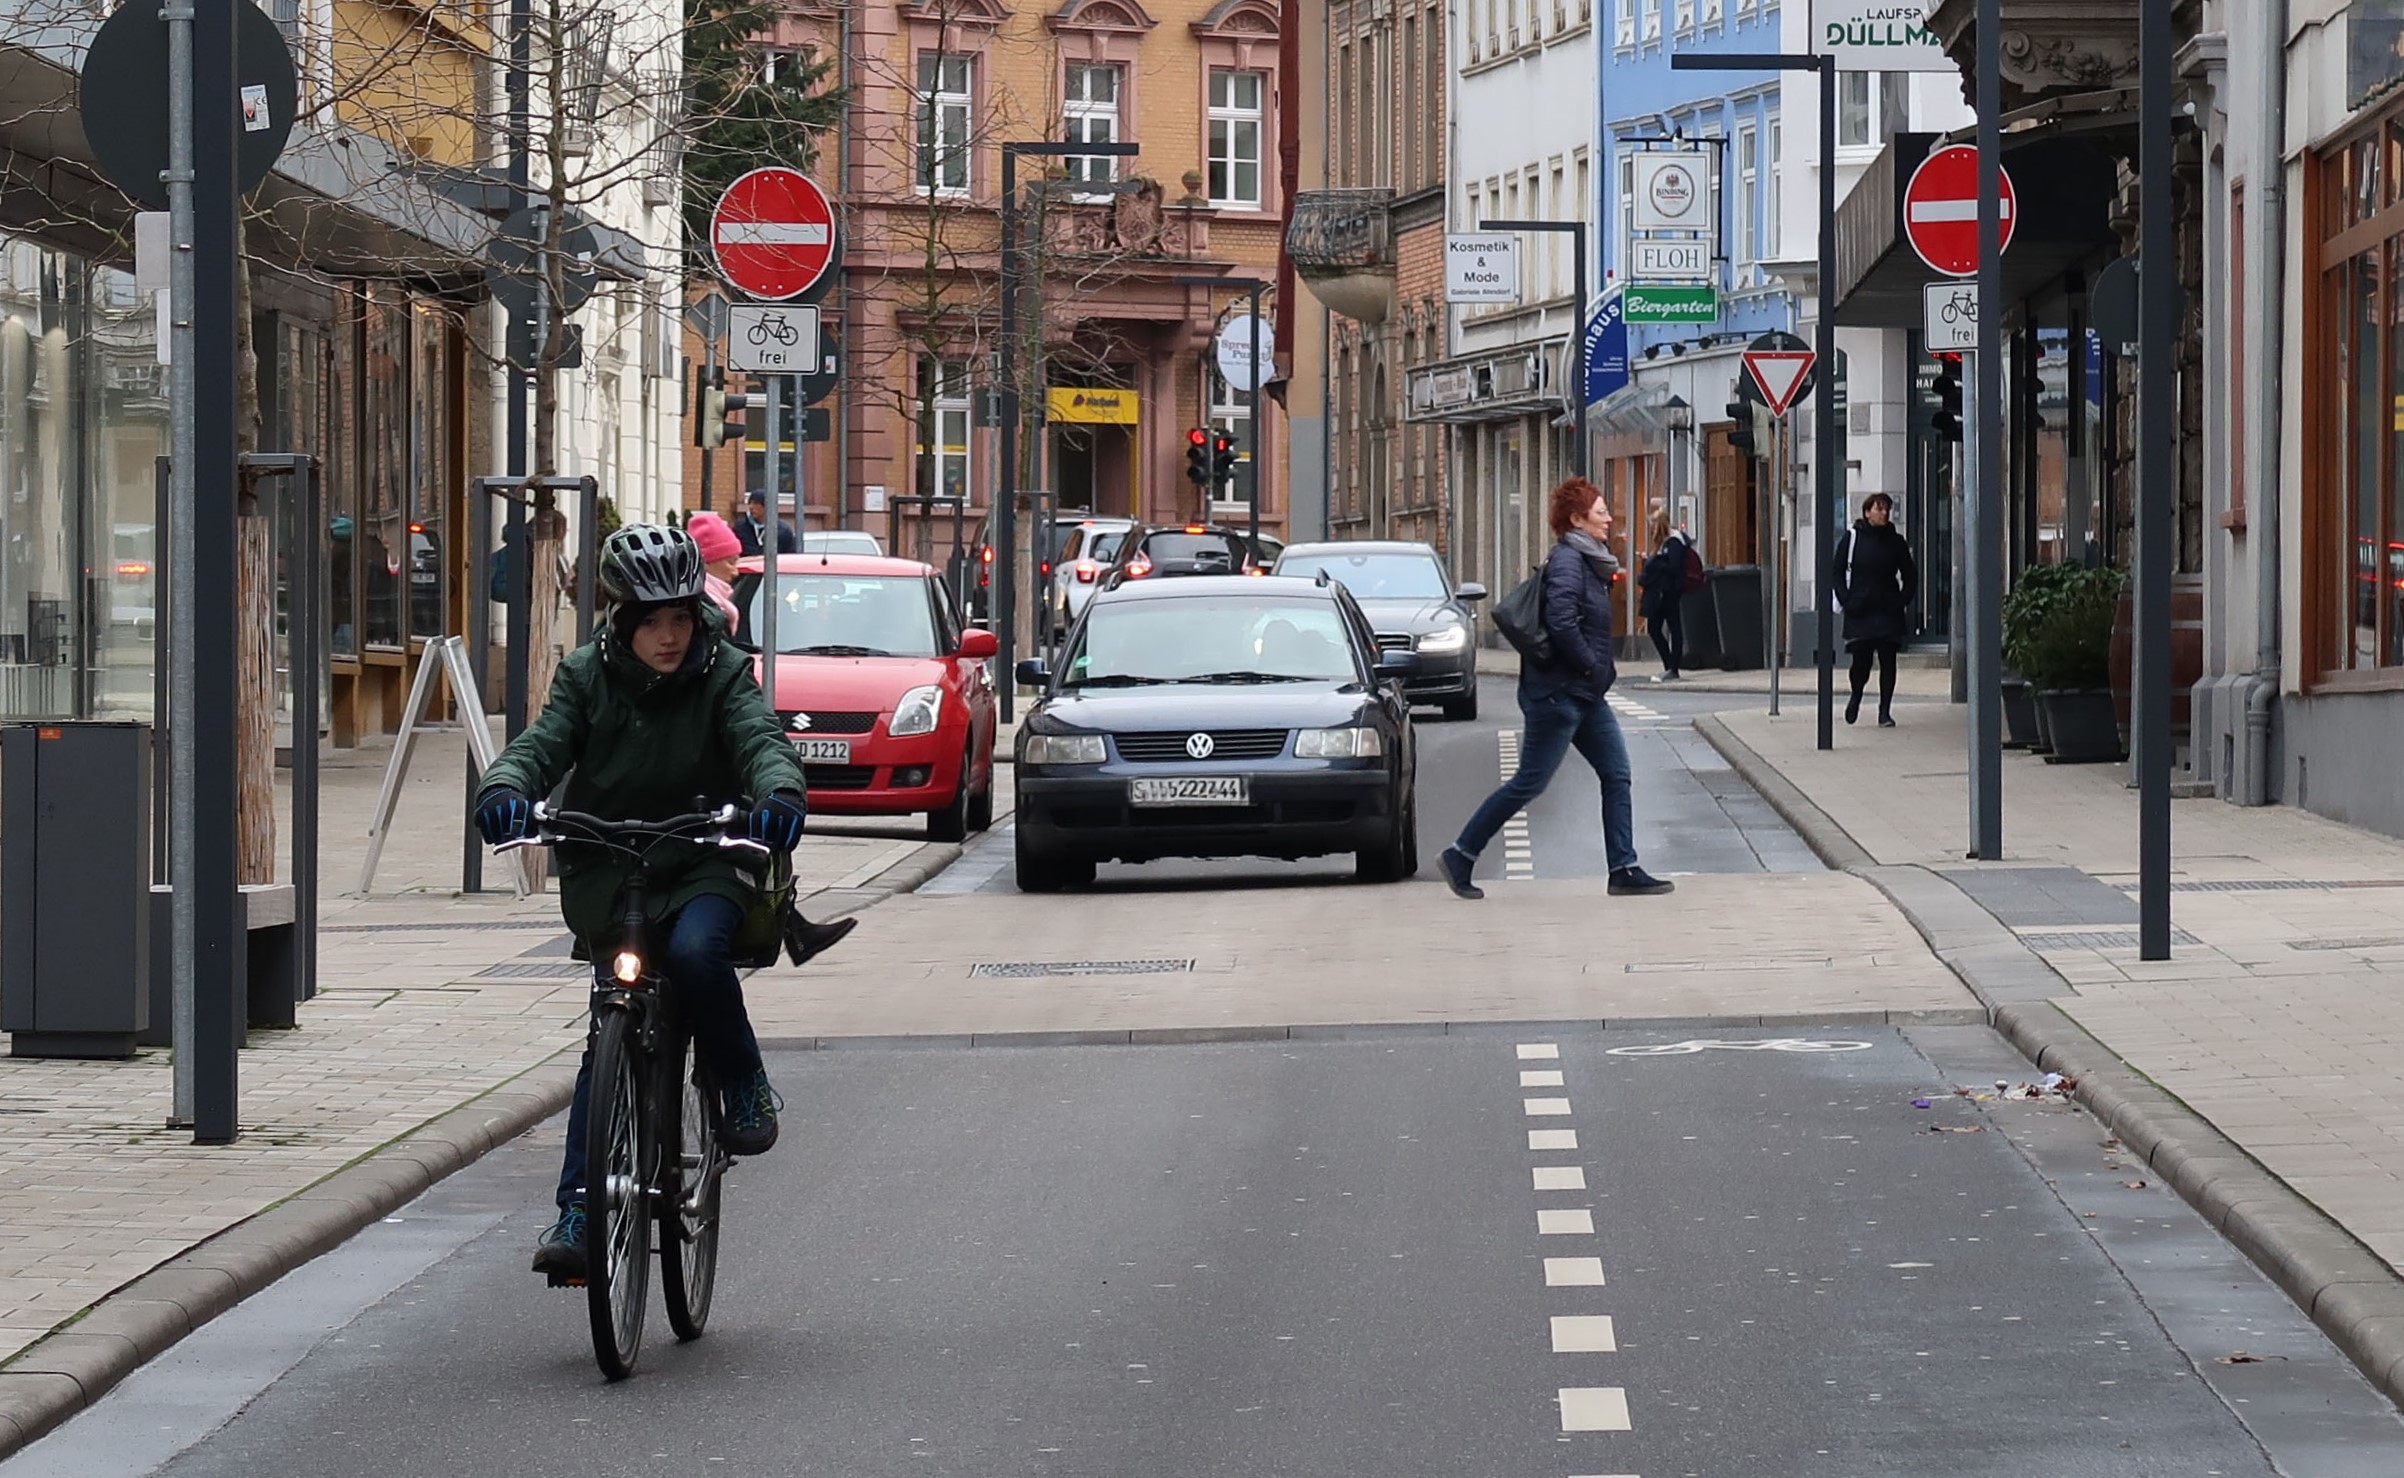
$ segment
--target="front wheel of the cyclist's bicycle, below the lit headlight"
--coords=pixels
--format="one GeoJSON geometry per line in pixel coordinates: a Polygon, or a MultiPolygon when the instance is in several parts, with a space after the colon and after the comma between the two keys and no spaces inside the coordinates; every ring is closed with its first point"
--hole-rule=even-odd
{"type": "Polygon", "coordinates": [[[584,1303],[601,1375],[625,1379],[642,1353],[651,1293],[651,1122],[635,1019],[603,1012],[584,1120],[584,1303]]]}

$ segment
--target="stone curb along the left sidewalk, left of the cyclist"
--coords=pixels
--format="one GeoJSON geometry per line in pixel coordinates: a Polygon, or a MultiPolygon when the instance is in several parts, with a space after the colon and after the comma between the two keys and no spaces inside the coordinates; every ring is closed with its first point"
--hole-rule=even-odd
{"type": "Polygon", "coordinates": [[[243,1298],[332,1252],[361,1228],[411,1202],[567,1105],[575,1065],[555,1053],[505,1084],[296,1197],[248,1216],[207,1242],[94,1303],[84,1317],[0,1365],[0,1459],[99,1401],[243,1298]]]}

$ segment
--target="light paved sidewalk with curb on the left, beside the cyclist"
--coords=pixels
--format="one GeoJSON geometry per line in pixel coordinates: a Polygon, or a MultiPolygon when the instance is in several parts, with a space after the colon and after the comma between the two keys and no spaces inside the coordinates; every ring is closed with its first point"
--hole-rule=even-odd
{"type": "MultiPolygon", "coordinates": [[[[510,863],[486,858],[495,892],[457,892],[464,747],[457,731],[421,740],[373,896],[356,889],[389,747],[327,755],[317,997],[298,1031],[250,1033],[236,1144],[202,1149],[166,1127],[163,1050],[0,1057],[0,1454],[567,1103],[587,966],[567,959],[555,894],[517,899],[510,863]]],[[[1005,812],[1007,800],[1002,769],[1005,812]]],[[[926,844],[916,817],[829,820],[813,824],[796,870],[805,911],[822,918],[957,856],[926,844]]],[[[796,971],[767,971],[769,990],[779,973],[796,971]]]]}

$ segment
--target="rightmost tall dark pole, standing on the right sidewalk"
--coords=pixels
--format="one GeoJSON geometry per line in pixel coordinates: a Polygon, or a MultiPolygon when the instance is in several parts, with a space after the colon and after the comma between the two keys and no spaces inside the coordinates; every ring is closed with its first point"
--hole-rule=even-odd
{"type": "Polygon", "coordinates": [[[2137,959],[2171,959],[2171,0],[2144,0],[2137,94],[2137,959]]]}

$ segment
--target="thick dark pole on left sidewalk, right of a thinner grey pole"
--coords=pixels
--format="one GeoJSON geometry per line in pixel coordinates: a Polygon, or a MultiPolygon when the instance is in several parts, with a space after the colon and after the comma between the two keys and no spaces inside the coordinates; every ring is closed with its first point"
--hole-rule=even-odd
{"type": "MultiPolygon", "coordinates": [[[[192,14],[192,562],[178,574],[190,591],[188,632],[228,632],[226,639],[185,644],[183,668],[195,702],[183,731],[190,733],[190,875],[175,896],[192,899],[192,1036],[178,1043],[192,1053],[192,1144],[233,1144],[240,1130],[240,1045],[248,990],[243,964],[243,894],[233,882],[236,793],[240,723],[228,695],[240,690],[231,632],[240,620],[236,536],[238,469],[233,442],[233,274],[240,255],[240,216],[233,199],[236,96],[233,7],[212,5],[192,14]],[[200,373],[207,365],[207,373],[200,373]],[[207,517],[202,517],[207,509],[207,517]]],[[[178,303],[175,308],[183,308],[178,303]]]]}

